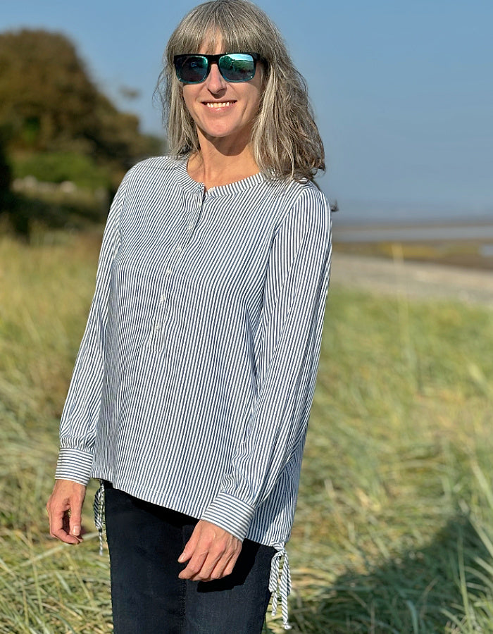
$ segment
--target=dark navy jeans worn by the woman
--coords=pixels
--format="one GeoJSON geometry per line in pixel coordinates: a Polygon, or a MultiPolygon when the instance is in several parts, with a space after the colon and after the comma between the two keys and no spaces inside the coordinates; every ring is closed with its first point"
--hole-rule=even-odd
{"type": "Polygon", "coordinates": [[[235,569],[215,581],[178,578],[196,520],[105,483],[115,634],[260,634],[275,549],[244,540],[235,569]]]}

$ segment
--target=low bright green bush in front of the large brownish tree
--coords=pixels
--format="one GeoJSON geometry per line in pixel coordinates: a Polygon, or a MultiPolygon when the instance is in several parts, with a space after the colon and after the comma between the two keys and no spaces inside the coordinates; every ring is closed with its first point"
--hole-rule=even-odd
{"type": "Polygon", "coordinates": [[[111,187],[108,169],[97,165],[90,156],[74,152],[44,152],[18,156],[13,161],[13,176],[34,176],[43,182],[59,183],[68,180],[85,189],[111,187]]]}

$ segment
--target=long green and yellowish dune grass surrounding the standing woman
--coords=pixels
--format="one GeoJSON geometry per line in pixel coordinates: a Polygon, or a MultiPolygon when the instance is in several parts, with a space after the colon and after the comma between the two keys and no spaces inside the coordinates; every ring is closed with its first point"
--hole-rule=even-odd
{"type": "MultiPolygon", "coordinates": [[[[111,632],[91,505],[75,548],[49,540],[44,510],[99,240],[0,239],[2,634],[111,632]]],[[[289,545],[294,632],[493,632],[492,349],[492,311],[334,280],[289,545]]]]}

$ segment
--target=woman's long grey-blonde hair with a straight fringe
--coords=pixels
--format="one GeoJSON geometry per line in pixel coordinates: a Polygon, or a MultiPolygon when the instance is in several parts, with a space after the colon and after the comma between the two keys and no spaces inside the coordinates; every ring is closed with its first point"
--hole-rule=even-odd
{"type": "Polygon", "coordinates": [[[306,82],[294,68],[280,32],[249,0],[200,4],[185,15],[171,35],[156,87],[170,154],[180,157],[200,151],[173,57],[197,53],[201,46],[213,53],[218,39],[227,53],[258,53],[265,60],[263,95],[250,139],[258,168],[267,178],[313,180],[318,170],[325,170],[325,162],[306,82]]]}

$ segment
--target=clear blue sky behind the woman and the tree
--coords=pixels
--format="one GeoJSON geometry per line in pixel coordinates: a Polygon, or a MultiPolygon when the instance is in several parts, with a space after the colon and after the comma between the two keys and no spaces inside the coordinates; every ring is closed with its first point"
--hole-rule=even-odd
{"type": "MultiPolygon", "coordinates": [[[[0,31],[61,31],[103,92],[163,135],[152,95],[196,1],[0,0],[0,31]],[[120,89],[137,89],[125,99],[120,89]]],[[[493,218],[492,0],[257,0],[308,82],[339,218],[493,218]]]]}

